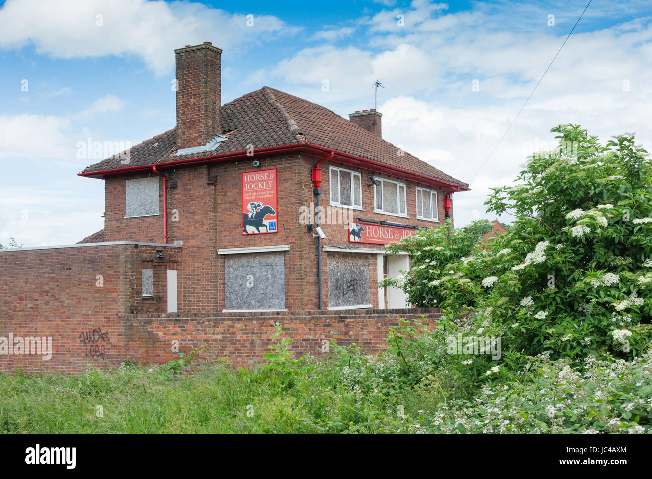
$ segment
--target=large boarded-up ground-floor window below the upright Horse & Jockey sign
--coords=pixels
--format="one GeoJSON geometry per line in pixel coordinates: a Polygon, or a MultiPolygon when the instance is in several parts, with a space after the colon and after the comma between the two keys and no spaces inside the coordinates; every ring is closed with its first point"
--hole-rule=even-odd
{"type": "Polygon", "coordinates": [[[224,304],[226,310],[284,310],[284,254],[225,255],[224,304]]]}

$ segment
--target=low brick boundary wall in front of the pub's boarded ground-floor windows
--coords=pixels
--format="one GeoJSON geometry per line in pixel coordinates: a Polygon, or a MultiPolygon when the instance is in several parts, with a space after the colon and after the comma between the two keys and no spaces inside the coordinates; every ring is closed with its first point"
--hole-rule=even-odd
{"type": "Polygon", "coordinates": [[[166,362],[173,340],[179,351],[206,345],[208,351],[200,357],[224,359],[231,366],[250,366],[263,361],[273,343],[278,321],[282,338],[293,341],[289,349],[295,356],[322,355],[325,341],[338,345],[356,343],[368,353],[381,352],[387,343],[389,327],[398,326],[400,319],[425,318],[434,325],[441,316],[438,309],[411,308],[397,310],[295,311],[228,313],[189,316],[183,314],[128,315],[126,323],[133,332],[127,346],[136,362],[166,362]]]}

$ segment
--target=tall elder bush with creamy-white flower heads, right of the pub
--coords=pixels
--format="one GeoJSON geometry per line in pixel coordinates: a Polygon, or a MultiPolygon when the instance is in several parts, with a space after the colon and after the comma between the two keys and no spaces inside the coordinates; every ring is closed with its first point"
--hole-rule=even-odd
{"type": "Polygon", "coordinates": [[[634,358],[651,338],[647,151],[633,136],[600,145],[580,126],[552,131],[559,147],[529,158],[518,186],[494,188],[485,203],[515,216],[509,232],[445,267],[421,269],[413,255],[413,270],[439,306],[474,310],[476,327],[502,336],[505,351],[634,358]],[[630,335],[617,339],[617,329],[630,335]]]}

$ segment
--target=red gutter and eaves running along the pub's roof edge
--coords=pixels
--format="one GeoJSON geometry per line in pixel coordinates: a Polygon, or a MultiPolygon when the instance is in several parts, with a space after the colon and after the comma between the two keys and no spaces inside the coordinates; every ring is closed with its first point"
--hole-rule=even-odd
{"type": "MultiPolygon", "coordinates": [[[[333,149],[321,147],[319,145],[314,145],[313,143],[299,143],[297,145],[284,145],[280,147],[269,147],[269,148],[260,148],[254,150],[254,154],[288,154],[293,152],[304,152],[310,156],[316,156],[320,160],[331,159],[334,162],[339,162],[349,166],[358,166],[363,167],[364,169],[369,169],[375,173],[385,173],[386,175],[392,175],[395,177],[408,179],[422,184],[428,184],[430,186],[436,186],[447,191],[469,191],[470,188],[467,186],[460,186],[451,181],[445,181],[430,177],[428,175],[423,175],[422,173],[414,173],[413,171],[408,171],[407,169],[387,165],[384,163],[377,162],[375,160],[369,160],[368,158],[363,158],[361,156],[355,156],[353,154],[348,154],[340,151],[333,151],[333,149]],[[331,152],[333,157],[330,156],[331,152]],[[323,158],[323,154],[329,155],[328,158],[323,158]]],[[[168,167],[168,166],[191,166],[196,164],[207,164],[207,163],[219,163],[227,162],[231,160],[237,160],[240,158],[250,159],[251,152],[247,155],[247,151],[237,151],[227,154],[213,154],[210,156],[201,156],[199,158],[188,158],[187,160],[176,160],[170,162],[162,162],[156,164],[149,164],[143,166],[129,166],[124,168],[116,169],[105,169],[102,171],[91,171],[89,173],[78,173],[79,176],[89,177],[89,178],[106,178],[112,176],[120,176],[125,173],[136,173],[139,171],[151,171],[153,166],[156,167],[168,167]]],[[[319,163],[319,162],[318,162],[319,163]]]]}

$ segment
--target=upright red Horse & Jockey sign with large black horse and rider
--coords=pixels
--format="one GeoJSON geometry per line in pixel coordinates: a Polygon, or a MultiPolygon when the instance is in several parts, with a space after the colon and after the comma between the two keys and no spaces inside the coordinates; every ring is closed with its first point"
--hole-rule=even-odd
{"type": "Polygon", "coordinates": [[[278,233],[276,168],[242,174],[243,235],[278,233]]]}

